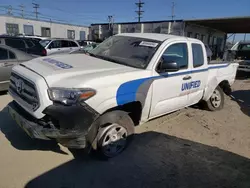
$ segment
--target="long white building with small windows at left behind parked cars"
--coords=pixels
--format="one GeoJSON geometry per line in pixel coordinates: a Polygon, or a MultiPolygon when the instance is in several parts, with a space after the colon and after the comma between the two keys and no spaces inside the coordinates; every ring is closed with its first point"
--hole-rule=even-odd
{"type": "Polygon", "coordinates": [[[86,40],[89,27],[3,15],[0,16],[0,34],[86,40]]]}

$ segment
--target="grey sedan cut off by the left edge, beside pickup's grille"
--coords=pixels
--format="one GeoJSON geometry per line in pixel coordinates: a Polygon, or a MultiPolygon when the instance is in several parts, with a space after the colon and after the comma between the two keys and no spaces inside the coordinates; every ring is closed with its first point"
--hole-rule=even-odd
{"type": "Polygon", "coordinates": [[[35,57],[9,46],[0,45],[0,91],[8,90],[13,66],[35,57]]]}

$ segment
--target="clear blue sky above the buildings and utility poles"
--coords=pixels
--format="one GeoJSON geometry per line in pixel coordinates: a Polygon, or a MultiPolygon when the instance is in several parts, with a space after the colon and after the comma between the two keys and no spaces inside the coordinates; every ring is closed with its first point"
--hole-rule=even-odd
{"type": "MultiPolygon", "coordinates": [[[[66,23],[90,25],[107,22],[108,15],[115,22],[132,22],[136,19],[138,0],[1,0],[3,6],[11,5],[14,15],[20,15],[20,4],[25,6],[24,15],[34,17],[32,3],[38,3],[40,18],[66,23]]],[[[175,19],[197,19],[250,16],[250,0],[141,0],[145,2],[142,21],[171,19],[171,6],[175,2],[175,19]]],[[[242,35],[239,35],[242,37],[242,35]]],[[[247,35],[250,40],[250,36],[247,35]]]]}

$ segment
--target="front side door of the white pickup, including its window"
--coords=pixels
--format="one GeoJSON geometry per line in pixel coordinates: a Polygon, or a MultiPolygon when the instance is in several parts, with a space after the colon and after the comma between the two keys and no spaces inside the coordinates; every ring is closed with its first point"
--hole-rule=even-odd
{"type": "Polygon", "coordinates": [[[185,87],[191,81],[188,51],[186,42],[174,42],[165,48],[156,67],[150,118],[176,111],[189,104],[189,91],[185,87]],[[161,63],[168,62],[176,62],[179,70],[161,71],[161,63]]]}

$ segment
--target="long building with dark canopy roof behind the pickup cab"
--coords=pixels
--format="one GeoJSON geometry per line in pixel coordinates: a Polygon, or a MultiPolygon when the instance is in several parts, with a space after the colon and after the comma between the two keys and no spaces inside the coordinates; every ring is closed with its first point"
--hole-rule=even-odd
{"type": "Polygon", "coordinates": [[[200,20],[163,20],[150,22],[92,24],[90,37],[105,39],[118,33],[165,33],[197,38],[222,56],[229,33],[250,33],[250,17],[215,18],[200,20]]]}

